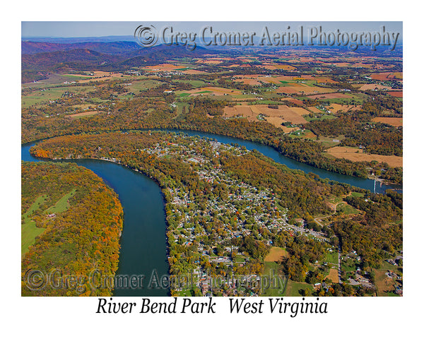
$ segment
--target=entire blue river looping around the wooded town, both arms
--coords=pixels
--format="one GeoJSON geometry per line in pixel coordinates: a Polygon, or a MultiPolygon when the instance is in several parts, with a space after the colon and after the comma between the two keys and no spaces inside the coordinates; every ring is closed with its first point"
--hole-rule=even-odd
{"type": "MultiPolygon", "coordinates": [[[[292,169],[300,169],[305,172],[313,172],[319,177],[344,182],[363,189],[374,190],[375,182],[370,179],[361,179],[342,174],[317,169],[309,165],[291,160],[278,153],[277,150],[259,143],[244,141],[228,136],[219,136],[212,133],[198,131],[179,131],[189,136],[201,136],[214,138],[221,143],[237,143],[245,146],[248,150],[256,149],[260,153],[292,169]]],[[[25,161],[41,161],[30,155],[30,148],[35,143],[21,146],[21,159],[25,161]]],[[[63,160],[61,160],[63,161],[63,160]]],[[[102,160],[68,160],[78,165],[91,169],[95,174],[106,182],[118,195],[124,208],[124,229],[121,237],[121,252],[119,255],[119,268],[117,276],[130,277],[140,282],[139,288],[117,288],[115,296],[166,296],[169,289],[155,288],[155,278],[167,275],[169,265],[167,263],[166,248],[166,224],[165,203],[160,187],[152,179],[145,175],[134,172],[114,162],[102,160]],[[144,275],[141,279],[140,275],[144,275]]],[[[375,186],[377,193],[384,193],[385,189],[401,191],[401,186],[382,185],[375,186]]]]}

